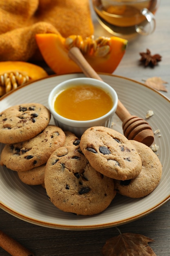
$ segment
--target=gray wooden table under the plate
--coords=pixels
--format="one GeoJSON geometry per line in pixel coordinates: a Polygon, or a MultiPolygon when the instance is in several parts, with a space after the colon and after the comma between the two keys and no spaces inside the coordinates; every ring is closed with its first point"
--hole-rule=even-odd
{"type": "MultiPolygon", "coordinates": [[[[167,81],[170,98],[170,1],[161,0],[156,13],[157,27],[153,34],[139,37],[129,43],[126,54],[114,74],[142,82],[152,76],[167,81]],[[139,65],[139,52],[149,48],[152,54],[159,53],[162,61],[154,69],[139,65]]],[[[93,12],[92,12],[93,13],[93,12]]],[[[96,21],[96,34],[108,34],[96,21]]],[[[11,216],[0,209],[0,229],[36,256],[99,256],[100,249],[108,238],[118,235],[115,227],[89,231],[66,231],[39,227],[11,216]]],[[[150,243],[157,256],[170,256],[170,201],[148,216],[120,227],[121,232],[143,234],[155,240],[150,243]]],[[[0,248],[0,256],[9,254],[0,248]]]]}

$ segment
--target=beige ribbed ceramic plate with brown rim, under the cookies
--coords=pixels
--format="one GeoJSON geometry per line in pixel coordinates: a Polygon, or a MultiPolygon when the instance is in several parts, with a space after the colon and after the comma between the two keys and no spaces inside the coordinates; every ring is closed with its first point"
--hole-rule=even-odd
{"type": "MultiPolygon", "coordinates": [[[[51,89],[66,79],[84,76],[69,74],[51,76],[18,88],[0,100],[0,111],[20,103],[38,102],[45,106],[51,89]]],[[[56,229],[99,229],[121,225],[151,213],[170,199],[170,101],[159,92],[123,77],[101,74],[102,79],[113,86],[118,97],[132,115],[145,118],[153,110],[149,123],[153,130],[160,129],[161,137],[155,135],[159,145],[159,159],[163,165],[161,182],[150,195],[142,199],[130,199],[116,195],[110,206],[95,216],[75,216],[58,210],[49,201],[41,186],[23,184],[16,172],[0,166],[0,207],[8,213],[36,225],[56,229]]],[[[53,124],[53,120],[51,120],[53,124]]],[[[122,132],[121,121],[115,115],[114,129],[122,132]]],[[[0,144],[0,152],[3,145],[0,144]]]]}

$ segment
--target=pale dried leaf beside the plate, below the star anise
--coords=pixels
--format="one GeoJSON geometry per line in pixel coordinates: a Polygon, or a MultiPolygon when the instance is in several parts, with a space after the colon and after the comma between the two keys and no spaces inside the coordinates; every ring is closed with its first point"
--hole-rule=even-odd
{"type": "Polygon", "coordinates": [[[168,92],[168,90],[166,89],[166,86],[164,85],[165,83],[168,83],[168,82],[163,81],[161,77],[158,77],[158,76],[150,77],[145,81],[145,84],[148,85],[149,87],[152,87],[158,91],[168,92]]]}

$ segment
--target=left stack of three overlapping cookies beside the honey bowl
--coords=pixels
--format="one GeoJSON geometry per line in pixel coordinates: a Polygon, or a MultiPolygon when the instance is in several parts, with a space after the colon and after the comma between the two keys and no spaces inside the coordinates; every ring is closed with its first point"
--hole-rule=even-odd
{"type": "Polygon", "coordinates": [[[44,183],[45,164],[64,145],[62,129],[49,125],[51,113],[38,103],[10,107],[0,114],[0,142],[5,146],[0,164],[17,171],[25,183],[44,183]]]}

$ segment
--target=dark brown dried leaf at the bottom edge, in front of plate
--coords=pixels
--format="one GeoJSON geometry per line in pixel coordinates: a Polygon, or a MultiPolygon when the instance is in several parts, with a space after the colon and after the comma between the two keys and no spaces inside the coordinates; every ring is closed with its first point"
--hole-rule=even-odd
{"type": "Polygon", "coordinates": [[[148,243],[154,240],[140,234],[124,233],[106,240],[103,256],[156,256],[148,243]]]}

